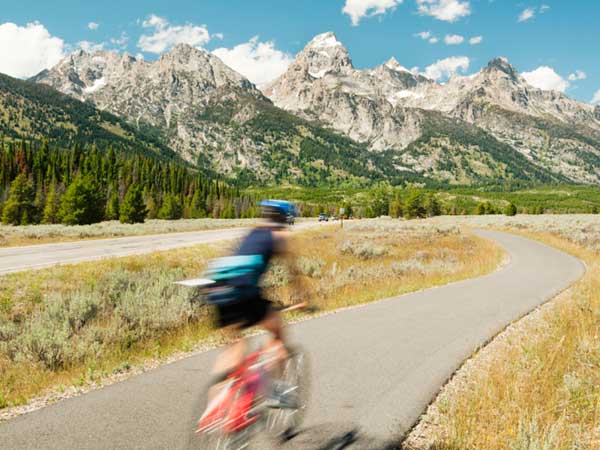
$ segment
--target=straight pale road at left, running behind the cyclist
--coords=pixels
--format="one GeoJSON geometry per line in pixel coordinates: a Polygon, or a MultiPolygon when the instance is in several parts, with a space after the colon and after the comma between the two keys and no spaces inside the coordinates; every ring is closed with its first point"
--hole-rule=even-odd
{"type": "MultiPolygon", "coordinates": [[[[301,222],[294,227],[305,229],[317,225],[317,222],[301,222]]],[[[0,248],[0,275],[237,239],[245,232],[244,228],[228,228],[0,248]]]]}

